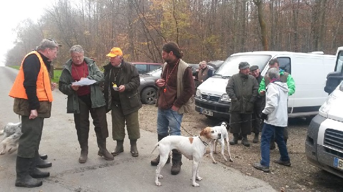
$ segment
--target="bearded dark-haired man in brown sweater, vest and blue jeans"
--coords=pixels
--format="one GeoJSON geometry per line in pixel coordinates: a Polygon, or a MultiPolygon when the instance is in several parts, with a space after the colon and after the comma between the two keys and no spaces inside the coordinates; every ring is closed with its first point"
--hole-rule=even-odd
{"type": "MultiPolygon", "coordinates": [[[[178,44],[168,42],[162,47],[162,59],[165,61],[161,74],[161,79],[156,80],[159,87],[157,111],[157,138],[160,141],[168,135],[181,135],[181,121],[183,113],[191,112],[195,109],[194,90],[195,85],[192,77],[192,70],[181,58],[183,52],[178,44]]],[[[171,174],[177,175],[181,170],[182,154],[178,150],[173,150],[173,165],[171,174]]],[[[160,156],[153,159],[151,164],[156,166],[160,161],[160,156]]],[[[170,162],[168,158],[167,163],[170,162]]]]}

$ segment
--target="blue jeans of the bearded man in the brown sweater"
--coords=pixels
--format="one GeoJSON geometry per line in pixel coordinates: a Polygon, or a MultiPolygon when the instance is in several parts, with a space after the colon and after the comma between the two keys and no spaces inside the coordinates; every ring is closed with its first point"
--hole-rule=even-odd
{"type": "Polygon", "coordinates": [[[181,121],[183,114],[171,109],[157,110],[157,134],[181,135],[181,121]],[[169,132],[168,132],[169,130],[169,132]]]}

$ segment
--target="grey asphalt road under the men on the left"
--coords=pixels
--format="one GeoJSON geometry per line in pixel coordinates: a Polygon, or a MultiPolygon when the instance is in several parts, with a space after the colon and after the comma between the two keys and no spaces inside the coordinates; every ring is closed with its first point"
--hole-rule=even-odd
{"type": "MultiPolygon", "coordinates": [[[[8,96],[17,70],[0,67],[0,126],[19,121],[13,112],[13,99],[8,96]]],[[[53,91],[52,116],[47,118],[40,142],[40,153],[48,154],[52,167],[44,169],[50,177],[43,179],[43,185],[35,188],[15,187],[16,152],[0,156],[0,191],[275,191],[268,183],[243,175],[237,170],[221,163],[212,164],[203,159],[199,174],[203,178],[200,187],[191,185],[191,161],[183,157],[179,175],[171,175],[171,164],[162,170],[162,186],[155,186],[155,166],[150,160],[157,156],[157,150],[151,151],[156,143],[156,134],[141,130],[138,140],[139,157],[130,155],[130,143],[124,141],[124,152],[113,161],[97,156],[95,132],[91,125],[89,138],[89,156],[84,164],[78,162],[79,145],[73,122],[73,115],[66,113],[67,96],[53,91]]],[[[108,114],[109,128],[112,127],[108,114]]],[[[141,119],[144,121],[144,119],[141,119]]],[[[155,125],[153,125],[155,126],[155,125]]],[[[110,135],[112,135],[111,129],[110,135]]],[[[115,142],[107,140],[111,152],[115,142]]]]}

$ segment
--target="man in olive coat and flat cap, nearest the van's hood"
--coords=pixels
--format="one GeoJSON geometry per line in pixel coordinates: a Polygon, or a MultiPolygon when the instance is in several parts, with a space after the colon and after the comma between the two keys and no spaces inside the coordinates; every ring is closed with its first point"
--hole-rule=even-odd
{"type": "Polygon", "coordinates": [[[247,135],[251,134],[251,114],[258,95],[259,84],[252,75],[249,75],[250,65],[248,62],[240,62],[239,73],[233,75],[226,86],[226,93],[231,99],[230,113],[230,133],[233,138],[230,145],[238,143],[238,134],[242,134],[242,144],[250,146],[247,135]]]}

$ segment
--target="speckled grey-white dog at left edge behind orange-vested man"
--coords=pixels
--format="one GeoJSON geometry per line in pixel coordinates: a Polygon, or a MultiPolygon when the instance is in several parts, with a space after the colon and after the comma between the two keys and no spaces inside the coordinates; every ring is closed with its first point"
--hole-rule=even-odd
{"type": "Polygon", "coordinates": [[[8,123],[3,130],[0,131],[0,135],[4,135],[1,145],[3,151],[0,155],[4,155],[6,151],[11,154],[18,149],[18,141],[22,133],[22,122],[20,123],[8,123]],[[7,150],[8,149],[8,150],[7,150]]]}

